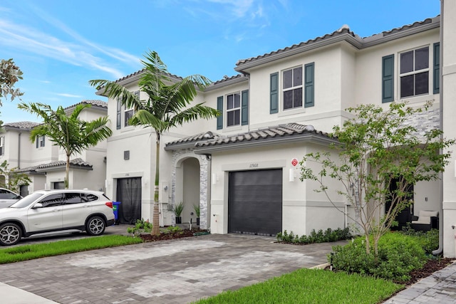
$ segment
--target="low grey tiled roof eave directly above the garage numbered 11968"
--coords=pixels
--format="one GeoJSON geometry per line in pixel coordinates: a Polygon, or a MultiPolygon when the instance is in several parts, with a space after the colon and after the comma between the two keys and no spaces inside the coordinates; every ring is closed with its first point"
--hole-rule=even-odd
{"type": "Polygon", "coordinates": [[[327,137],[315,133],[304,133],[286,137],[275,136],[258,140],[243,140],[241,142],[226,142],[217,145],[195,147],[194,152],[195,154],[211,154],[213,152],[239,150],[252,147],[264,147],[266,145],[279,145],[294,142],[312,142],[320,145],[330,145],[331,143],[337,143],[338,140],[333,137],[327,137]]]}

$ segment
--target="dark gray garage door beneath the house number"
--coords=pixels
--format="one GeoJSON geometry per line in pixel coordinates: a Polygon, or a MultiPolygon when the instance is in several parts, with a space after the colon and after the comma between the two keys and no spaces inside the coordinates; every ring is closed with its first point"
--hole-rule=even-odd
{"type": "Polygon", "coordinates": [[[229,173],[228,229],[275,236],[282,230],[282,169],[229,173]]]}

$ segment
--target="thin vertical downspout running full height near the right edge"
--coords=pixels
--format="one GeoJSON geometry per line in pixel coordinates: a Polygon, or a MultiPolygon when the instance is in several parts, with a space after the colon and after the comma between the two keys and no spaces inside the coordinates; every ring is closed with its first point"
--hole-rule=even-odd
{"type": "MultiPolygon", "coordinates": [[[[439,69],[439,83],[440,83],[440,98],[439,98],[439,115],[440,115],[440,130],[443,131],[443,2],[440,0],[440,69],[439,69]]],[[[440,140],[443,139],[443,134],[440,135],[440,140]]],[[[442,151],[440,151],[442,153],[442,151]]],[[[434,256],[438,256],[443,252],[443,173],[440,172],[440,209],[439,209],[439,248],[432,251],[434,256]]]]}

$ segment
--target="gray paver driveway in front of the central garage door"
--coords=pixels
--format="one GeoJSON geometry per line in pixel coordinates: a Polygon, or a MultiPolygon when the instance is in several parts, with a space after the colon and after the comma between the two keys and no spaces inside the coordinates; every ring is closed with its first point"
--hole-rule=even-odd
{"type": "Polygon", "coordinates": [[[58,303],[190,303],[326,263],[331,246],[212,234],[0,266],[0,281],[58,303]]]}

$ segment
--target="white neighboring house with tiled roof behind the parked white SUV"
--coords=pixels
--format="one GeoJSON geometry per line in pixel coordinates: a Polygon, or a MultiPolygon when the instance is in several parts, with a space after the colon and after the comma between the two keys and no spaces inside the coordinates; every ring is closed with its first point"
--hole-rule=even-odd
{"type": "MultiPolygon", "coordinates": [[[[105,116],[108,104],[102,100],[82,100],[92,105],[81,112],[81,120],[94,120],[105,116]]],[[[71,112],[76,105],[66,108],[71,112]]],[[[39,123],[10,122],[4,124],[5,132],[0,134],[0,162],[6,160],[9,168],[18,168],[28,174],[31,184],[21,187],[21,195],[41,189],[63,189],[66,170],[66,154],[53,145],[46,136],[39,137],[35,143],[30,140],[30,131],[39,123]]],[[[73,155],[70,164],[69,184],[72,189],[93,189],[104,191],[106,174],[106,141],[73,155]]]]}

